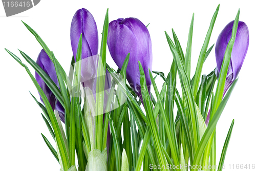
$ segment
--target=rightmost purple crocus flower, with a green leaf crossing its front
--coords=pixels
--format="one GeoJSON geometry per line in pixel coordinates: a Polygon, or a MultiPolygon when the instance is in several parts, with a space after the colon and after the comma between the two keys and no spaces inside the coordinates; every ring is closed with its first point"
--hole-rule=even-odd
{"type": "MultiPolygon", "coordinates": [[[[216,75],[219,78],[219,73],[221,70],[222,61],[227,48],[227,44],[232,35],[232,27],[234,21],[230,22],[220,33],[215,48],[215,56],[217,62],[217,68],[215,69],[216,75]]],[[[227,78],[225,82],[224,94],[231,86],[232,82],[237,79],[238,74],[244,62],[247,50],[249,46],[249,30],[244,22],[238,23],[238,30],[236,35],[236,40],[234,41],[234,46],[231,53],[230,63],[228,66],[227,78]]],[[[210,112],[210,111],[209,111],[210,112]]],[[[206,124],[209,122],[209,113],[206,118],[206,124]]]]}

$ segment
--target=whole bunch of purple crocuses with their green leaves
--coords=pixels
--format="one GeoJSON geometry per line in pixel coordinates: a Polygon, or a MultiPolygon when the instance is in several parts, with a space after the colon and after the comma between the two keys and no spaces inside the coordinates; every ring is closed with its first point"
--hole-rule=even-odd
{"type": "MultiPolygon", "coordinates": [[[[109,23],[107,10],[99,50],[93,15],[79,9],[71,22],[73,57],[70,55],[68,74],[41,37],[24,23],[42,46],[36,62],[20,51],[35,69],[35,77],[16,55],[6,51],[26,69],[38,90],[41,102],[32,97],[42,109],[42,118],[56,143],[51,144],[44,135],[42,138],[60,170],[216,170],[211,167],[218,164],[216,125],[249,45],[248,28],[239,21],[239,10],[215,37],[217,67],[202,75],[204,61],[214,48],[208,48],[208,44],[218,11],[219,6],[194,75],[190,73],[194,14],[185,53],[174,30],[174,41],[165,32],[173,54],[167,77],[152,71],[150,33],[137,18],[118,18],[109,23]],[[116,70],[106,62],[107,45],[116,70]],[[156,77],[163,79],[161,90],[156,77]],[[180,92],[177,81],[182,86],[180,92]],[[178,112],[174,112],[175,105],[178,112]]],[[[224,164],[233,124],[218,170],[224,164]]]]}

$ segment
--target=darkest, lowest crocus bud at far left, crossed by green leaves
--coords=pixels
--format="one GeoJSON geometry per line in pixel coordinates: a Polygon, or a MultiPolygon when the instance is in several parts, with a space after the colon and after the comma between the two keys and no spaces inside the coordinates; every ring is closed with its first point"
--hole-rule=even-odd
{"type": "MultiPolygon", "coordinates": [[[[50,78],[53,80],[53,82],[59,88],[59,82],[58,82],[58,79],[57,79],[54,64],[53,64],[52,60],[49,58],[49,56],[47,55],[47,53],[45,52],[44,49],[42,49],[41,52],[39,53],[39,55],[37,57],[37,60],[36,60],[36,63],[39,67],[41,67],[42,70],[44,70],[46,72],[46,74],[48,74],[50,76],[50,78]]],[[[35,72],[35,79],[38,82],[42,91],[45,93],[47,99],[49,100],[49,102],[52,106],[52,109],[53,110],[56,109],[59,113],[60,120],[62,122],[65,122],[65,109],[63,108],[63,106],[57,100],[57,98],[52,93],[50,88],[46,85],[45,81],[42,80],[42,78],[36,72],[35,72]]],[[[40,99],[42,101],[41,97],[40,97],[40,99]]]]}

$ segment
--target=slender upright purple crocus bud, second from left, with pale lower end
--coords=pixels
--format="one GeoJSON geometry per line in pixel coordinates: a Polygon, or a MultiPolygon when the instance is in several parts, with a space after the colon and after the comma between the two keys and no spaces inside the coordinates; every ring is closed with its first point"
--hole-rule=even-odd
{"type": "Polygon", "coordinates": [[[71,23],[70,38],[75,60],[81,34],[81,83],[83,87],[92,88],[97,69],[98,31],[92,14],[84,8],[76,11],[71,23]]]}

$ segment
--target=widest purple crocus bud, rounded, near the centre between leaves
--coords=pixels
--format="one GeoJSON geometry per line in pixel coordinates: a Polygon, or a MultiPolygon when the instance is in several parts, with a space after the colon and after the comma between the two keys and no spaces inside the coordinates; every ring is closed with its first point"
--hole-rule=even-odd
{"type": "Polygon", "coordinates": [[[126,78],[134,92],[141,97],[140,72],[138,61],[143,67],[146,85],[150,92],[151,79],[148,69],[152,71],[151,38],[146,26],[137,18],[119,18],[109,24],[108,47],[119,69],[130,53],[126,78]]]}

